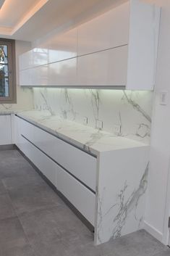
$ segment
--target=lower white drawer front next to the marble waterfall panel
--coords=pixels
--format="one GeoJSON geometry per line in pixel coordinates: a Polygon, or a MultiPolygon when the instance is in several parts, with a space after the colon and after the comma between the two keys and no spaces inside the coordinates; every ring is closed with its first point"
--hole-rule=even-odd
{"type": "Polygon", "coordinates": [[[95,194],[60,167],[57,170],[56,188],[94,226],[95,194]]]}

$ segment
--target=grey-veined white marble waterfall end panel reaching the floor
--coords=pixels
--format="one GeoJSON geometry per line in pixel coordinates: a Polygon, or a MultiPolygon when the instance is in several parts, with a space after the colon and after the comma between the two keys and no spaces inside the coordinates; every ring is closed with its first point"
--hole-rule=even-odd
{"type": "Polygon", "coordinates": [[[143,228],[148,151],[140,146],[100,154],[95,244],[143,228]]]}

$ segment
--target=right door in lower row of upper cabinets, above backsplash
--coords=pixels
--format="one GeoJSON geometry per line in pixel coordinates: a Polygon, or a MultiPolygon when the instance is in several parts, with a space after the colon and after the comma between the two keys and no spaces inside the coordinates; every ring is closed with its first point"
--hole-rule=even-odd
{"type": "Polygon", "coordinates": [[[125,86],[127,46],[88,54],[77,59],[77,85],[125,86]]]}

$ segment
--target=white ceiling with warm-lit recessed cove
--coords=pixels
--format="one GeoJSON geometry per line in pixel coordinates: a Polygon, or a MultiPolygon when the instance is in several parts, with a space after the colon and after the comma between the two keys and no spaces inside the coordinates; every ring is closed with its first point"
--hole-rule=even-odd
{"type": "Polygon", "coordinates": [[[35,41],[51,30],[74,27],[124,1],[6,0],[0,9],[0,37],[35,41]]]}

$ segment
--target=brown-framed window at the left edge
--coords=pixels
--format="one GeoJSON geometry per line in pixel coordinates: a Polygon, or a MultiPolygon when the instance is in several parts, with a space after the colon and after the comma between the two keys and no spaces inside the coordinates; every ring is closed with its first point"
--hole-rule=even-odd
{"type": "Polygon", "coordinates": [[[0,104],[16,103],[14,40],[0,38],[0,104]]]}

